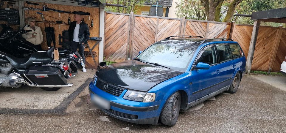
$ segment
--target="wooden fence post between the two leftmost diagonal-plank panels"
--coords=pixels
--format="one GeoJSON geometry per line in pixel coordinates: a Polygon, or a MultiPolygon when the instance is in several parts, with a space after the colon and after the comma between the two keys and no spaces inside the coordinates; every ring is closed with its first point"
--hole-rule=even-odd
{"type": "Polygon", "coordinates": [[[127,39],[127,50],[126,50],[126,60],[132,58],[132,49],[133,49],[133,32],[134,32],[134,13],[130,12],[129,26],[128,26],[128,39],[127,39]]]}

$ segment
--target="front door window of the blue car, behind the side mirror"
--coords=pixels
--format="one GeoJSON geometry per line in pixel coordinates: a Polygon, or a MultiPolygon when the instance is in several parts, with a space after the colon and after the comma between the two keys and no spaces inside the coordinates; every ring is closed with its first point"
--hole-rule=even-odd
{"type": "Polygon", "coordinates": [[[199,62],[207,63],[209,65],[216,64],[215,47],[205,47],[199,54],[196,64],[199,62]]]}

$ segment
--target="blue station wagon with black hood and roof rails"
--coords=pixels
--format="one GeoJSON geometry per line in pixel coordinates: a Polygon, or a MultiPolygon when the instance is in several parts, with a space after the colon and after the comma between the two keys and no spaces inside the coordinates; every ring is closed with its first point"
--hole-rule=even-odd
{"type": "Polygon", "coordinates": [[[117,119],[173,126],[187,110],[224,91],[235,93],[245,56],[232,39],[172,36],[131,60],[99,69],[91,101],[117,119]]]}

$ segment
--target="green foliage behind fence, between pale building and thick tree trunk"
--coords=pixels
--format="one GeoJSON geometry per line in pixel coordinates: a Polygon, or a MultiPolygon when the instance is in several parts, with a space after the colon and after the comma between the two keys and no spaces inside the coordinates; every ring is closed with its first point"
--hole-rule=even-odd
{"type": "Polygon", "coordinates": [[[206,13],[200,0],[180,0],[173,6],[177,8],[177,18],[206,20],[206,13]]]}

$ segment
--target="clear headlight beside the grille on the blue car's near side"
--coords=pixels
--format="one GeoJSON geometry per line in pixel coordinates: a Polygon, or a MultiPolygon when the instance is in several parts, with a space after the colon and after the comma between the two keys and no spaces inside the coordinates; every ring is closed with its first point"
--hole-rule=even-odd
{"type": "Polygon", "coordinates": [[[155,96],[156,96],[155,93],[128,90],[123,96],[123,99],[138,101],[138,102],[154,102],[155,96]]]}

